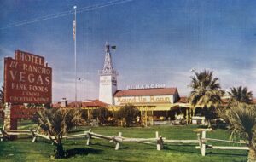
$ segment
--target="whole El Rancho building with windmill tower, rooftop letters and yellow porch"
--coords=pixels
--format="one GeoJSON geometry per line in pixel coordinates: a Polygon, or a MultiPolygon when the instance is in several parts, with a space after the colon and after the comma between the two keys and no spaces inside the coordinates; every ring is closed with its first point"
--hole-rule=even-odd
{"type": "MultiPolygon", "coordinates": [[[[113,69],[110,49],[114,46],[106,44],[105,61],[99,71],[99,104],[96,101],[86,102],[88,110],[104,107],[110,111],[119,110],[126,104],[131,104],[141,112],[143,121],[174,119],[177,113],[182,113],[189,119],[192,114],[186,97],[178,95],[177,88],[165,88],[161,84],[146,86],[130,86],[128,90],[118,90],[118,72],[113,69]],[[90,103],[90,104],[89,104],[90,103]]],[[[146,122],[147,123],[147,122],[146,122]]]]}

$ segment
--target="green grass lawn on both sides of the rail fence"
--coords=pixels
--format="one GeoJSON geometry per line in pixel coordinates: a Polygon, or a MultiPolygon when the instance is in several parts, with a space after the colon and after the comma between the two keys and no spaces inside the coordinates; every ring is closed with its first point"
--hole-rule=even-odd
{"type": "MultiPolygon", "coordinates": [[[[32,123],[28,123],[32,125],[32,123]]],[[[19,128],[27,128],[24,122],[19,128]]],[[[96,127],[93,132],[104,135],[118,135],[119,131],[127,137],[154,137],[155,131],[168,139],[196,139],[193,132],[197,126],[153,126],[151,128],[120,128],[96,127]]],[[[88,130],[79,127],[80,132],[88,130]]],[[[79,133],[79,131],[76,131],[79,133]]],[[[207,137],[229,139],[227,130],[215,130],[207,133],[207,137]]],[[[20,136],[14,142],[0,142],[0,161],[247,161],[247,151],[207,150],[206,157],[201,157],[200,150],[195,144],[179,145],[165,144],[164,150],[157,151],[155,145],[125,142],[121,143],[118,151],[114,145],[106,140],[93,139],[90,146],[86,146],[85,139],[63,140],[64,148],[73,156],[69,159],[50,159],[55,147],[49,141],[38,138],[32,143],[31,137],[20,136]]],[[[213,145],[225,145],[223,142],[211,142],[213,145]]],[[[239,145],[236,145],[239,146],[239,145]]]]}

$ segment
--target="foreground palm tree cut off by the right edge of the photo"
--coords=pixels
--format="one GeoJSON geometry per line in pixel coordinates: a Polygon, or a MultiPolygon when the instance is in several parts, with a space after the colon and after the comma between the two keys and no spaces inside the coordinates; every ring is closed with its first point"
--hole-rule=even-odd
{"type": "MultiPolygon", "coordinates": [[[[247,142],[248,162],[256,161],[256,106],[236,103],[229,109],[218,110],[218,115],[229,124],[231,135],[239,136],[247,142]]],[[[231,136],[232,137],[232,136],[231,136]]]]}

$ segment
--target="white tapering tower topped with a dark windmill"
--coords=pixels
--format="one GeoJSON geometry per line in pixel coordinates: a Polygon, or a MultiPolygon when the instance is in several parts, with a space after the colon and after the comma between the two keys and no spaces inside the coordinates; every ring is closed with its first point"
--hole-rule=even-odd
{"type": "Polygon", "coordinates": [[[115,49],[115,46],[110,46],[106,43],[106,55],[103,70],[100,74],[100,93],[99,100],[113,105],[113,94],[117,90],[117,75],[113,70],[110,48],[115,49]]]}

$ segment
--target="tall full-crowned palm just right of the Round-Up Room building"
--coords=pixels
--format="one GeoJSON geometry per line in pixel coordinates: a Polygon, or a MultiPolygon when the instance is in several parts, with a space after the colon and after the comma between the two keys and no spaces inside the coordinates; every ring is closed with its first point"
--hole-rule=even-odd
{"type": "Polygon", "coordinates": [[[209,126],[211,125],[212,111],[215,109],[212,107],[218,107],[222,103],[221,96],[224,95],[224,91],[220,90],[218,78],[214,78],[212,74],[213,72],[207,70],[195,72],[189,85],[193,89],[189,95],[189,102],[193,107],[204,107],[209,126]]]}

